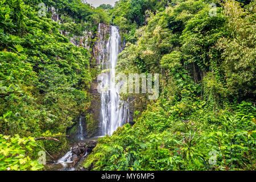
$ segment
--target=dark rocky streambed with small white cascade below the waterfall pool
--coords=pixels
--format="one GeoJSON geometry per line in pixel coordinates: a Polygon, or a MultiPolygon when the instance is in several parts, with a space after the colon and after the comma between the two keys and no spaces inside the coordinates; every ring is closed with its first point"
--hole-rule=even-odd
{"type": "Polygon", "coordinates": [[[71,149],[67,154],[58,160],[47,162],[47,169],[50,171],[88,171],[82,167],[82,162],[96,147],[96,144],[97,140],[84,140],[71,144],[71,149]]]}

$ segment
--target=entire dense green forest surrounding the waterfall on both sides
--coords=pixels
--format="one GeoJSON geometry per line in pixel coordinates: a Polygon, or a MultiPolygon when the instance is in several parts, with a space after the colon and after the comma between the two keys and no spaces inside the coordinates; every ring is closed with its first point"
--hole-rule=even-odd
{"type": "Polygon", "coordinates": [[[90,118],[90,89],[101,73],[99,24],[119,29],[117,72],[159,73],[159,97],[121,94],[133,123],[99,138],[84,168],[255,170],[255,0],[0,6],[0,170],[47,170],[40,151],[52,160],[69,150],[67,129],[81,113],[90,118]]]}

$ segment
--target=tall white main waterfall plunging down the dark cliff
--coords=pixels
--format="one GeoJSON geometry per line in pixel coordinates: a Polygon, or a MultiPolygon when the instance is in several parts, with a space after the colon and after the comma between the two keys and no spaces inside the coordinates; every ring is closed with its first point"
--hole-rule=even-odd
{"type": "Polygon", "coordinates": [[[109,72],[107,76],[102,78],[100,85],[101,89],[101,134],[112,135],[113,132],[120,126],[123,126],[129,119],[129,104],[126,101],[119,99],[119,88],[115,83],[115,66],[117,64],[117,56],[121,38],[118,28],[110,27],[110,38],[106,45],[108,53],[108,63],[106,67],[109,72]]]}

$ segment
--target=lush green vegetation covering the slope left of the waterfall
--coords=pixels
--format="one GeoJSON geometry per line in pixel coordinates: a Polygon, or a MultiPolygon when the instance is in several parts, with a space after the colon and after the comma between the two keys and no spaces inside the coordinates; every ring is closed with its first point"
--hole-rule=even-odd
{"type": "MultiPolygon", "coordinates": [[[[53,3],[45,3],[50,2],[53,3]]],[[[66,3],[63,7],[72,7],[72,11],[60,7],[59,10],[72,14],[77,21],[71,20],[73,26],[79,25],[80,20],[89,19],[90,26],[97,27],[98,22],[93,23],[92,16],[100,17],[98,10],[88,5],[76,5],[75,8],[73,4],[77,1],[61,2],[66,3]],[[81,18],[73,13],[86,13],[85,9],[89,11],[88,16],[82,14],[81,18]]],[[[31,137],[65,135],[67,127],[72,126],[90,101],[88,89],[93,76],[91,55],[87,49],[73,46],[68,38],[60,34],[65,24],[38,16],[37,10],[32,8],[36,6],[26,5],[21,0],[1,1],[0,6],[0,167],[39,169],[41,167],[37,167],[38,164],[32,159],[38,157],[42,148],[32,144],[34,151],[30,152],[28,140],[19,137],[30,137],[32,141],[31,137]]],[[[51,154],[67,147],[64,137],[59,143],[37,143],[51,154]]]]}

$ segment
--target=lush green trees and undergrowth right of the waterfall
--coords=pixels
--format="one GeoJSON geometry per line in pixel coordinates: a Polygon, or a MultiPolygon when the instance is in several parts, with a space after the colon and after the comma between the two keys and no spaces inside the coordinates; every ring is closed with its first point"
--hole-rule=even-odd
{"type": "MultiPolygon", "coordinates": [[[[129,15],[132,2],[139,3],[120,1],[111,11],[122,14],[113,20],[120,27],[144,22],[118,22],[129,15]]],[[[160,97],[148,101],[138,94],[135,125],[100,139],[85,167],[255,169],[255,1],[243,8],[216,1],[216,16],[209,16],[209,3],[172,1],[154,14],[155,6],[146,26],[126,39],[119,71],[162,73],[160,97]]],[[[129,28],[124,32],[133,34],[129,28]]]]}

